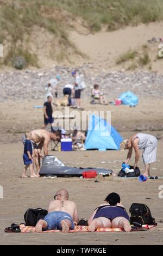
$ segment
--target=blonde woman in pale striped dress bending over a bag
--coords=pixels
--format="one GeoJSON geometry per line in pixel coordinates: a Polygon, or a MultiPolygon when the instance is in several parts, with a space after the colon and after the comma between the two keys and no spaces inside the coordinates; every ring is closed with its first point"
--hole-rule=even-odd
{"type": "Polygon", "coordinates": [[[127,160],[125,161],[125,163],[128,164],[134,148],[135,169],[137,166],[137,162],[139,161],[140,149],[143,149],[142,159],[143,163],[145,164],[145,172],[143,175],[149,176],[150,164],[156,161],[157,143],[158,141],[156,137],[146,133],[137,133],[133,135],[129,140],[124,139],[124,141],[121,143],[121,149],[128,149],[127,160]]]}

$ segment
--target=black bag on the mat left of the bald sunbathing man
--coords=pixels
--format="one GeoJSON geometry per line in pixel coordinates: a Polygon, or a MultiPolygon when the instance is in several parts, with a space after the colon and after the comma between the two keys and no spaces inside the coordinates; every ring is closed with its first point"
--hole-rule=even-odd
{"type": "Polygon", "coordinates": [[[41,208],[37,209],[28,209],[24,214],[24,221],[26,226],[35,227],[37,222],[44,218],[48,214],[47,210],[43,210],[41,208]]]}

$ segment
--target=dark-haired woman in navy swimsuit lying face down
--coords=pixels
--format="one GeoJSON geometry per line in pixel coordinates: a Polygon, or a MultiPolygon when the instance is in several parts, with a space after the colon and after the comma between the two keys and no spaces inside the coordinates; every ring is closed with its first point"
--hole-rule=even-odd
{"type": "Polygon", "coordinates": [[[105,198],[105,203],[95,209],[88,224],[92,232],[97,228],[123,228],[126,232],[131,230],[129,216],[117,193],[110,193],[105,198]]]}

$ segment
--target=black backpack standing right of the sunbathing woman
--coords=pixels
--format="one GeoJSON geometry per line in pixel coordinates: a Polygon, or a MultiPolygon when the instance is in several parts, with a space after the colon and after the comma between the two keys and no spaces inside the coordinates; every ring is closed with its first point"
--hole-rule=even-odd
{"type": "Polygon", "coordinates": [[[155,220],[151,215],[151,211],[146,204],[132,204],[130,207],[130,214],[131,224],[156,225],[155,220]]]}

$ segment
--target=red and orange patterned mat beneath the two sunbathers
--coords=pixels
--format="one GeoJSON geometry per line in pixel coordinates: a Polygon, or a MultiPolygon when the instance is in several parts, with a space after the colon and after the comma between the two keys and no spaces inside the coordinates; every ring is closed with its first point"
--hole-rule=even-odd
{"type": "MultiPolygon", "coordinates": [[[[146,231],[148,229],[154,228],[155,225],[142,225],[142,228],[133,228],[131,231],[146,231]]],[[[21,233],[35,233],[35,227],[29,227],[25,226],[24,224],[20,225],[21,233]]],[[[110,232],[110,231],[118,231],[118,232],[123,232],[124,230],[122,228],[98,228],[95,232],[110,232]]],[[[57,233],[61,232],[58,229],[54,230],[47,230],[47,231],[42,231],[41,233],[57,233]]],[[[77,233],[77,232],[90,232],[88,230],[87,226],[76,226],[74,229],[68,231],[68,233],[77,233]]]]}

